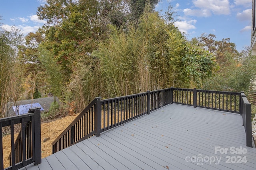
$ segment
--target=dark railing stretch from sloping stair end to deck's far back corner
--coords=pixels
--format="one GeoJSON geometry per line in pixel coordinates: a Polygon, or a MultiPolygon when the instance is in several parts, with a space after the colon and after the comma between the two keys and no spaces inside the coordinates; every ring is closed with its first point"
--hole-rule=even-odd
{"type": "Polygon", "coordinates": [[[117,98],[95,98],[52,143],[52,153],[171,103],[171,88],[117,98]]]}

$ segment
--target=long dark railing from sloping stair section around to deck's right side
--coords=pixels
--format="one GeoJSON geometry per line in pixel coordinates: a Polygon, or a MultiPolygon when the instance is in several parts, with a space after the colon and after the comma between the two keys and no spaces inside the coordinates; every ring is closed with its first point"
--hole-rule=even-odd
{"type": "MultiPolygon", "coordinates": [[[[248,129],[250,106],[247,104],[246,109],[243,110],[242,101],[246,101],[246,97],[242,97],[240,92],[196,88],[166,88],[104,100],[98,97],[52,143],[52,153],[88,137],[94,135],[98,137],[106,130],[172,103],[240,113],[244,119],[246,132],[250,132],[248,129]]],[[[252,147],[252,134],[246,133],[246,139],[247,146],[252,147]]]]}

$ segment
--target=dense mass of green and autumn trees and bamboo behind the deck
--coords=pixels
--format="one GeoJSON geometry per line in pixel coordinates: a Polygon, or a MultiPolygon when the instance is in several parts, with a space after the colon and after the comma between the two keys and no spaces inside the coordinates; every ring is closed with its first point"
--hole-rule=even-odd
{"type": "Polygon", "coordinates": [[[250,51],[238,53],[228,38],[216,41],[212,34],[188,41],[174,26],[172,8],[160,16],[154,11],[157,3],[47,0],[38,8],[46,24],[26,35],[25,43],[19,43],[16,30],[1,29],[1,113],[9,98],[47,93],[79,112],[96,96],[171,86],[236,91],[252,87],[255,57],[250,51]]]}

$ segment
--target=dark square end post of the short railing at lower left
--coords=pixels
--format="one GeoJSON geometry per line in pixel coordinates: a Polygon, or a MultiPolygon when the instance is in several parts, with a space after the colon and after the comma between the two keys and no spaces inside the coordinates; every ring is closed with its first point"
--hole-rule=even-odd
{"type": "Polygon", "coordinates": [[[41,150],[41,108],[36,107],[30,109],[30,113],[34,113],[34,146],[35,146],[35,162],[34,165],[42,163],[42,150],[41,150]]]}

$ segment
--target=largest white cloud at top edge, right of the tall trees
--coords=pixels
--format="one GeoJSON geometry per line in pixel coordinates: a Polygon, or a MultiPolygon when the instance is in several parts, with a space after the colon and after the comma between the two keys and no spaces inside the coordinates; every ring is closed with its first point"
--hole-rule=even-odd
{"type": "Polygon", "coordinates": [[[230,14],[230,6],[228,0],[195,0],[193,3],[197,9],[185,9],[185,15],[208,17],[211,16],[212,13],[215,15],[230,14]]]}

